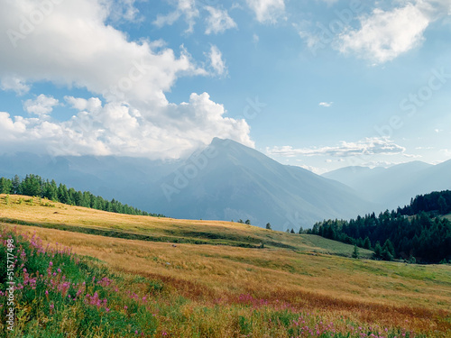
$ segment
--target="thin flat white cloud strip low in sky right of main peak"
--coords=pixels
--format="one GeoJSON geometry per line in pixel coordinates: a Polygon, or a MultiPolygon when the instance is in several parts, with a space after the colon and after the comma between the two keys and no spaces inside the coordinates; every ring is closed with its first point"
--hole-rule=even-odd
{"type": "Polygon", "coordinates": [[[283,157],[296,157],[299,155],[349,157],[359,155],[400,154],[404,151],[406,151],[404,147],[395,144],[387,138],[380,137],[365,138],[358,142],[343,141],[340,142],[340,145],[332,147],[295,149],[291,146],[282,146],[266,149],[266,152],[270,155],[283,157]]]}

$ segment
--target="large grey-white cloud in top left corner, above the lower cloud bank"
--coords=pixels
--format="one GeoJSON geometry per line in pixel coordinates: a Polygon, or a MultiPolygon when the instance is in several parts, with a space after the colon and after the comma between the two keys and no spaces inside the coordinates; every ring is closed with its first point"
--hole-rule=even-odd
{"type": "Polygon", "coordinates": [[[108,99],[165,102],[164,91],[181,74],[197,74],[184,50],[177,56],[161,41],[127,41],[123,32],[106,25],[107,7],[102,4],[64,1],[24,31],[23,18],[43,14],[40,3],[6,2],[0,28],[9,33],[0,34],[0,78],[14,74],[28,81],[85,87],[108,99]]]}

